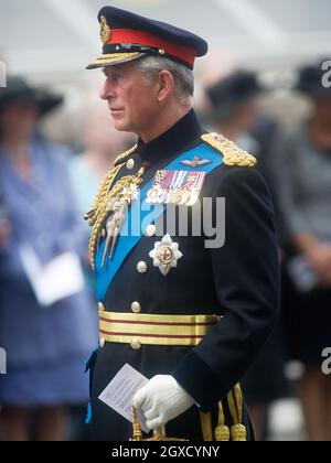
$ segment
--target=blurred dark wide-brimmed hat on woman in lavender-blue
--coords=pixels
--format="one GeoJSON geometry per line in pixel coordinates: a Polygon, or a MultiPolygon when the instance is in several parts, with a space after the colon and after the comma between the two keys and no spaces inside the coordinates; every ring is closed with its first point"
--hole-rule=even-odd
{"type": "Polygon", "coordinates": [[[46,115],[63,101],[62,96],[45,88],[32,87],[22,77],[9,77],[7,86],[0,88],[0,110],[9,103],[22,98],[35,101],[40,108],[40,116],[46,115]]]}

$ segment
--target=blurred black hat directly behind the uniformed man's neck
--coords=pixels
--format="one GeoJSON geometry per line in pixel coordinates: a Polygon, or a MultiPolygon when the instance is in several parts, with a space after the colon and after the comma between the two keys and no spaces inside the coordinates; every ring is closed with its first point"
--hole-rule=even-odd
{"type": "Polygon", "coordinates": [[[254,73],[236,71],[229,74],[206,89],[212,109],[205,115],[205,120],[211,121],[232,115],[238,107],[264,90],[254,73]]]}

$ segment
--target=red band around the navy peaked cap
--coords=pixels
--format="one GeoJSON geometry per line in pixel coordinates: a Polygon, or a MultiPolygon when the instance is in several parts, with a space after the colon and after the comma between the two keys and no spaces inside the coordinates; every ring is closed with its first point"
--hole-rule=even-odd
{"type": "Polygon", "coordinates": [[[143,31],[135,31],[131,29],[115,29],[111,31],[111,39],[107,45],[116,45],[120,43],[132,43],[137,45],[152,46],[163,49],[168,55],[178,57],[192,67],[196,57],[195,50],[190,46],[178,45],[157,35],[149,34],[143,31]]]}

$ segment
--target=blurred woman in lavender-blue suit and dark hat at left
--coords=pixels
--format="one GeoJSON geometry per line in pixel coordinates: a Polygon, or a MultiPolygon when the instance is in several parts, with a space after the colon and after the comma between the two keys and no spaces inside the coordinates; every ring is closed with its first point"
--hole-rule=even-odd
{"type": "Polygon", "coordinates": [[[0,376],[3,440],[63,440],[64,406],[87,398],[84,359],[95,343],[88,295],[76,292],[42,308],[20,255],[28,245],[46,265],[81,251],[67,153],[34,137],[40,118],[61,100],[21,78],[0,89],[0,190],[7,211],[0,243],[0,346],[8,360],[8,374],[0,376]],[[33,435],[31,411],[36,411],[33,435]]]}

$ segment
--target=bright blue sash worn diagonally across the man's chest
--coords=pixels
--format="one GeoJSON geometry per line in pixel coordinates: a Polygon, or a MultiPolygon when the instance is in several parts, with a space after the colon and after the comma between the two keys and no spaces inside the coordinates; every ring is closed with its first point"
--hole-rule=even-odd
{"type": "MultiPolygon", "coordinates": [[[[182,153],[173,162],[167,165],[164,170],[206,172],[209,174],[214,169],[218,168],[222,163],[223,157],[218,152],[216,152],[209,144],[201,143],[199,147],[182,153]],[[203,160],[207,159],[211,161],[211,163],[194,169],[181,164],[181,161],[192,160],[194,157],[199,157],[203,160]]],[[[138,245],[147,227],[153,224],[157,220],[157,218],[167,209],[167,204],[150,205],[146,203],[147,193],[152,187],[152,184],[153,179],[140,190],[139,201],[132,203],[132,206],[129,208],[126,222],[121,227],[121,230],[129,230],[129,234],[119,234],[113,259],[109,260],[107,258],[104,268],[102,268],[106,240],[104,240],[104,243],[98,249],[98,252],[96,254],[95,272],[98,301],[104,300],[106,292],[108,291],[116,273],[118,272],[118,270],[120,269],[120,267],[122,266],[124,261],[126,260],[130,251],[134,249],[134,247],[138,245]],[[140,217],[140,222],[138,217],[140,217]],[[135,230],[135,233],[130,234],[130,232],[132,230],[135,230]]]]}

